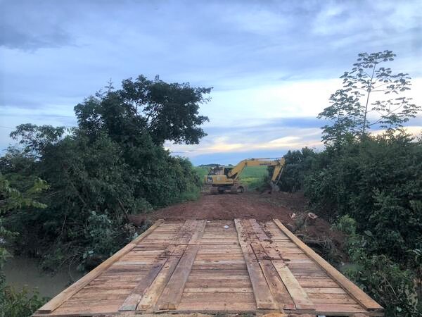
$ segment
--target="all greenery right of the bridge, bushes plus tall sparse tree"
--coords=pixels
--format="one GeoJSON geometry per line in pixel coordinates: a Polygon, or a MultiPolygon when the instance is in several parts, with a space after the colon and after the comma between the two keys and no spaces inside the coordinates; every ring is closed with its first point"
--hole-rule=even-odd
{"type": "Polygon", "coordinates": [[[325,149],[289,151],[281,188],[302,188],[310,207],[348,235],[346,274],[386,316],[422,316],[422,137],[402,129],[421,107],[405,94],[409,75],[384,66],[394,58],[359,54],[319,113],[330,121],[325,149]],[[383,133],[369,135],[373,127],[383,133]]]}

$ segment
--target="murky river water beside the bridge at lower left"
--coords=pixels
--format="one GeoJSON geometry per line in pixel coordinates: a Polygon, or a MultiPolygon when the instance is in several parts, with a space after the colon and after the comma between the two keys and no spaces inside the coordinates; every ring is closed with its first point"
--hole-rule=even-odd
{"type": "Polygon", "coordinates": [[[28,290],[37,287],[42,297],[54,297],[83,275],[75,269],[71,269],[69,274],[67,266],[52,275],[39,270],[37,259],[25,256],[8,259],[4,271],[8,285],[13,285],[17,290],[21,290],[24,286],[28,290]]]}

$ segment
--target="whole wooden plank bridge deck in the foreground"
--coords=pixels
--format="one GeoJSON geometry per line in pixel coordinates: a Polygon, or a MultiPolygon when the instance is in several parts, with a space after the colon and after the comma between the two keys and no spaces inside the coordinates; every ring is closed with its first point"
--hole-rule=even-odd
{"type": "Polygon", "coordinates": [[[128,311],[383,316],[276,219],[159,220],[34,316],[128,311]]]}

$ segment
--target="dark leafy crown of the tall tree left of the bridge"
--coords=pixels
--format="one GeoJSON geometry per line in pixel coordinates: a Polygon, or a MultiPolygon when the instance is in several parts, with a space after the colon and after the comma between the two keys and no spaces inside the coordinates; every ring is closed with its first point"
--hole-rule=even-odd
{"type": "Polygon", "coordinates": [[[113,90],[110,85],[106,93],[75,106],[75,113],[80,128],[107,130],[114,139],[126,137],[133,142],[148,132],[158,145],[166,140],[198,144],[206,135],[200,125],[208,120],[198,109],[210,100],[206,95],[211,89],[167,83],[158,76],[148,80],[141,75],[136,80],[123,80],[122,89],[113,90]]]}

